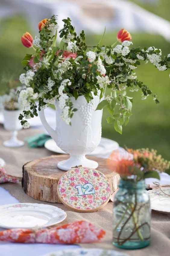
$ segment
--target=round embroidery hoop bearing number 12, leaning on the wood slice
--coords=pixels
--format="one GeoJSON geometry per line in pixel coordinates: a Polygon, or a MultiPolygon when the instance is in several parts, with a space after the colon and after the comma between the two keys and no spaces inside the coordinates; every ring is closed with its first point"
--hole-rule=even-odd
{"type": "MultiPolygon", "coordinates": [[[[84,182],[84,185],[87,185],[87,184],[91,184],[90,181],[87,183],[87,182],[84,182]]],[[[92,191],[93,191],[92,189],[92,191]]],[[[59,182],[58,182],[58,186],[57,186],[57,192],[58,192],[58,196],[59,196],[59,199],[61,200],[61,202],[66,205],[68,208],[70,208],[72,211],[75,211],[75,212],[96,212],[98,210],[100,210],[101,208],[103,208],[108,202],[109,202],[109,199],[110,199],[110,196],[111,196],[111,186],[110,186],[110,182],[109,180],[105,177],[105,175],[96,170],[96,169],[93,169],[93,168],[86,168],[86,167],[79,167],[77,166],[77,168],[72,168],[71,170],[69,170],[68,172],[65,172],[61,178],[59,179],[59,182]],[[79,177],[76,173],[76,170],[79,171],[79,177]],[[97,175],[97,178],[96,177],[93,177],[93,176],[90,176],[90,179],[93,179],[93,189],[96,188],[96,187],[99,187],[99,183],[102,183],[104,184],[103,188],[99,188],[99,191],[100,191],[100,195],[98,195],[98,192],[97,192],[97,196],[96,196],[96,190],[95,190],[95,193],[92,193],[92,194],[83,194],[83,195],[77,195],[79,194],[79,190],[76,188],[77,185],[81,185],[81,189],[82,191],[85,193],[86,190],[83,188],[83,183],[80,182],[80,179],[84,179],[86,176],[83,175],[81,172],[86,172],[89,171],[89,175],[90,174],[94,174],[94,172],[96,173],[97,175]],[[72,176],[74,178],[74,186],[72,188],[70,188],[70,179],[72,176]],[[64,183],[63,183],[64,181],[64,183]],[[64,185],[63,185],[64,184],[64,185]],[[70,188],[70,192],[68,190],[68,188],[70,188]],[[108,191],[106,191],[105,189],[108,189],[108,191]],[[65,190],[65,197],[63,197],[61,190],[65,190]],[[103,189],[103,193],[101,194],[101,190],[103,189]],[[109,191],[110,190],[110,191],[109,191]],[[72,194],[71,194],[72,193],[72,194]],[[84,196],[85,195],[85,198],[84,199],[84,196]],[[96,205],[96,207],[93,207],[93,208],[90,208],[90,209],[83,209],[83,207],[81,208],[76,208],[75,206],[73,206],[74,204],[74,201],[71,201],[69,200],[69,198],[75,198],[74,196],[76,196],[76,204],[79,204],[85,200],[88,200],[88,196],[89,195],[92,195],[92,199],[91,201],[93,201],[94,205],[96,205]],[[106,197],[106,200],[104,202],[102,202],[102,197],[106,197]]],[[[91,197],[91,196],[90,196],[91,197]]],[[[90,200],[89,200],[90,201],[90,200]]],[[[89,205],[90,207],[93,205],[93,203],[90,204],[90,202],[86,202],[87,205],[89,205]]],[[[87,207],[88,208],[88,207],[87,207]]]]}

